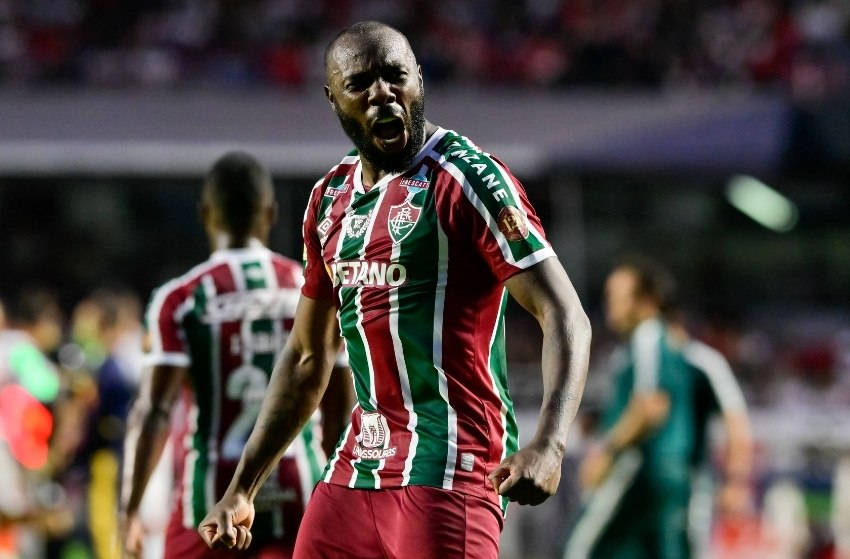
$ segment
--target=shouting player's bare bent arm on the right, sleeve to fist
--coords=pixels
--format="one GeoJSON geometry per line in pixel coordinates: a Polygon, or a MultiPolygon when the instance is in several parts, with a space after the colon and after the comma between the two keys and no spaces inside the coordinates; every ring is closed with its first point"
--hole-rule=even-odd
{"type": "Polygon", "coordinates": [[[543,404],[534,438],[489,477],[500,495],[537,505],[554,495],[561,479],[567,435],[587,376],[590,322],[557,258],[512,276],[505,287],[543,330],[543,404]]]}

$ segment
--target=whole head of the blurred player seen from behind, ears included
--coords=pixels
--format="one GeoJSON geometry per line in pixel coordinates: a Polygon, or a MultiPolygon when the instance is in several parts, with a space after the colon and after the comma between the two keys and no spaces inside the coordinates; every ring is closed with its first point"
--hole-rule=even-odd
{"type": "Polygon", "coordinates": [[[271,175],[247,153],[223,155],[204,181],[201,219],[212,250],[244,248],[252,239],[268,244],[277,220],[271,175]]]}

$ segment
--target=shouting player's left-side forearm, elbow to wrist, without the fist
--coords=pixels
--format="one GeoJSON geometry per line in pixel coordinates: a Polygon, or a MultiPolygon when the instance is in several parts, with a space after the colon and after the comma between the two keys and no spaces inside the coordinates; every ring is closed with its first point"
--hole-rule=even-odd
{"type": "Polygon", "coordinates": [[[253,499],[310,418],[327,386],[332,359],[285,348],[275,364],[257,421],[229,490],[253,499]]]}

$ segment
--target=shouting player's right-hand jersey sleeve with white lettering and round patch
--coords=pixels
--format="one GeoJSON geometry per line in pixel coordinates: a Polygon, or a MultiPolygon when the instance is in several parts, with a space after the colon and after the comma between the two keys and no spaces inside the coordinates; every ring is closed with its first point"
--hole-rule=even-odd
{"type": "Polygon", "coordinates": [[[554,256],[522,184],[497,158],[447,134],[443,168],[458,195],[444,226],[472,240],[499,281],[554,256]],[[459,187],[459,189],[457,188],[459,187]]]}

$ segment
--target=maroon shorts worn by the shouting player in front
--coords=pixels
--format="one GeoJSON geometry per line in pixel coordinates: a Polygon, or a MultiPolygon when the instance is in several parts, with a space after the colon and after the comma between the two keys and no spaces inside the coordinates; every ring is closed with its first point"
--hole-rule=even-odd
{"type": "Polygon", "coordinates": [[[457,491],[319,483],[295,559],[497,559],[502,524],[494,503],[457,491]]]}

